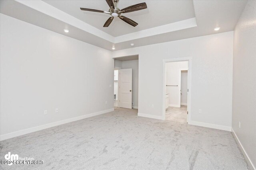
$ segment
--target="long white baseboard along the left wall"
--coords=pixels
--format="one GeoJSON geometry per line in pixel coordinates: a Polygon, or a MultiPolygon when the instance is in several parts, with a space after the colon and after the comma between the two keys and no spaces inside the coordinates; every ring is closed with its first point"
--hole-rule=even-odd
{"type": "Polygon", "coordinates": [[[78,116],[78,117],[72,117],[70,119],[56,121],[56,122],[48,123],[48,124],[45,124],[45,125],[31,127],[31,128],[28,128],[28,129],[23,129],[23,130],[12,132],[12,133],[7,133],[7,134],[4,134],[4,135],[0,135],[0,141],[10,139],[10,138],[13,138],[13,137],[17,137],[17,136],[20,136],[20,135],[25,135],[25,134],[32,133],[32,132],[35,132],[35,131],[40,131],[40,130],[47,129],[47,128],[50,128],[50,127],[62,125],[62,124],[65,124],[65,123],[70,123],[72,121],[77,121],[77,120],[85,119],[85,118],[88,118],[88,117],[101,115],[101,114],[104,114],[104,113],[108,113],[110,111],[114,111],[114,108],[99,111],[99,112],[95,112],[95,113],[90,113],[90,114],[86,114],[86,115],[82,115],[82,116],[78,116]]]}

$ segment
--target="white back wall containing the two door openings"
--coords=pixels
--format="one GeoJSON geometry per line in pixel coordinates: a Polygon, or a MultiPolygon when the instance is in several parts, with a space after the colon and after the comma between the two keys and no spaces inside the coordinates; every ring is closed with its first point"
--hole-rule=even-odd
{"type": "Polygon", "coordinates": [[[139,55],[138,112],[155,118],[162,117],[163,113],[162,60],[192,57],[191,120],[230,130],[233,31],[124,49],[113,54],[114,57],[139,55]],[[201,114],[198,109],[202,109],[201,114]]]}

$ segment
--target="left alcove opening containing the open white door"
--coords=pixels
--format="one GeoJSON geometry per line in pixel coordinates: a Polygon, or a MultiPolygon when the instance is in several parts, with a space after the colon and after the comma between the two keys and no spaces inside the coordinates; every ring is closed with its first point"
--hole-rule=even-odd
{"type": "Polygon", "coordinates": [[[114,107],[138,109],[138,62],[138,55],[114,59],[114,107]]]}

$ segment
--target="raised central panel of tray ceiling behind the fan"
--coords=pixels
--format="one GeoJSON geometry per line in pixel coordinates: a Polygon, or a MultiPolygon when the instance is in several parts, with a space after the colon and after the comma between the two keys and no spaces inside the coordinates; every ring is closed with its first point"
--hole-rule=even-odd
{"type": "Polygon", "coordinates": [[[146,2],[148,8],[122,14],[136,21],[138,23],[136,27],[119,18],[115,18],[109,27],[103,27],[110,17],[109,14],[82,11],[80,7],[108,11],[109,7],[105,0],[44,0],[44,2],[114,37],[195,17],[192,0],[120,0],[117,3],[120,9],[142,2],[146,2]]]}

